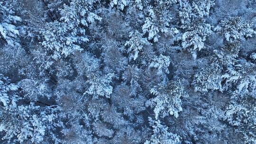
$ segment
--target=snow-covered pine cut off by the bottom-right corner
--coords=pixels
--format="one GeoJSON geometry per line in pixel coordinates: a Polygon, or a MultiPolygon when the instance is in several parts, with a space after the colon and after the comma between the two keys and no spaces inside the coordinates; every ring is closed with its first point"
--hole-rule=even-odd
{"type": "Polygon", "coordinates": [[[256,99],[249,95],[233,95],[222,116],[229,125],[243,135],[245,144],[256,142],[256,99]]]}

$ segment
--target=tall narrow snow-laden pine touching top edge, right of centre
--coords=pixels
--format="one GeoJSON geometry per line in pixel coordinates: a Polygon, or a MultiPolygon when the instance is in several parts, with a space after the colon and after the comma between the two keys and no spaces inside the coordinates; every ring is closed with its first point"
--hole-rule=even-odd
{"type": "Polygon", "coordinates": [[[198,0],[195,2],[184,2],[182,10],[179,11],[181,18],[182,48],[192,54],[194,59],[197,53],[205,48],[204,41],[212,33],[210,24],[205,22],[209,16],[210,8],[214,6],[214,0],[198,0]]]}

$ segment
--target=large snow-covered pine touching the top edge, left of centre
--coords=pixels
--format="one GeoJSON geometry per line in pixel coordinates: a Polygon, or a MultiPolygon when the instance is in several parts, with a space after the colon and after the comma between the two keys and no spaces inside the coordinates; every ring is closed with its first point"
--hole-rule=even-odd
{"type": "Polygon", "coordinates": [[[46,29],[41,30],[41,43],[57,60],[67,57],[77,51],[82,51],[81,45],[88,42],[85,27],[101,18],[93,13],[95,0],[73,0],[70,6],[61,9],[59,21],[47,23],[46,29]]]}

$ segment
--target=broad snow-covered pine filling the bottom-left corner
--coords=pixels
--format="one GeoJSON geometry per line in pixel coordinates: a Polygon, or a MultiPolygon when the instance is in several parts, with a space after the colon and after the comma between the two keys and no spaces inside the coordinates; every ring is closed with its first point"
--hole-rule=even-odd
{"type": "Polygon", "coordinates": [[[0,131],[5,143],[58,144],[55,134],[62,127],[58,107],[40,107],[33,103],[16,108],[7,107],[0,111],[0,131]]]}

